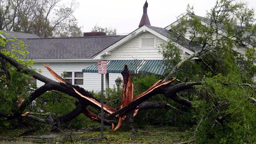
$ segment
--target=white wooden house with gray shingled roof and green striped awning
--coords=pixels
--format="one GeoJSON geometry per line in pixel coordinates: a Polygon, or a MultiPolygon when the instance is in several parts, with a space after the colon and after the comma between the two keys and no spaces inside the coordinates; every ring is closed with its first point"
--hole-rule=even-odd
{"type": "MultiPolygon", "coordinates": [[[[169,39],[175,41],[181,49],[181,57],[186,58],[194,53],[189,47],[189,32],[184,43],[170,37],[171,25],[165,28],[150,25],[147,15],[148,3],[143,6],[143,16],[139,28],[125,36],[106,36],[102,32],[85,32],[83,37],[76,38],[39,38],[32,34],[6,32],[24,41],[30,52],[26,58],[35,61],[33,68],[41,69],[44,76],[55,79],[43,64],[49,64],[57,74],[67,72],[66,80],[73,85],[79,85],[86,90],[100,90],[101,76],[97,73],[97,61],[108,61],[108,74],[104,75],[104,88],[113,87],[115,79],[121,76],[123,65],[128,63],[132,73],[163,74],[165,68],[161,63],[161,44],[167,44],[169,39]]],[[[186,15],[189,17],[189,15],[186,15]]],[[[199,16],[198,16],[199,17],[199,16]]],[[[202,23],[207,23],[199,17],[202,23]]],[[[9,37],[10,38],[10,37],[9,37]]],[[[38,86],[44,85],[37,81],[38,86]]]]}

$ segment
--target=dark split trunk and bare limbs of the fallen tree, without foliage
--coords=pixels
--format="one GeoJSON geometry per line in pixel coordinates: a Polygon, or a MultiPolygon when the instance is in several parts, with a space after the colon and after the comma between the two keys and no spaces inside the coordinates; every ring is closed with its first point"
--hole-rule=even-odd
{"type": "MultiPolygon", "coordinates": [[[[0,53],[0,57],[2,59],[5,59],[15,68],[17,68],[18,71],[23,72],[25,74],[32,74],[33,78],[43,81],[45,83],[45,85],[39,87],[32,94],[30,94],[28,99],[25,99],[23,101],[23,103],[19,106],[17,112],[14,112],[14,113],[1,112],[0,117],[5,117],[9,120],[15,119],[18,117],[28,117],[35,121],[56,125],[57,123],[59,124],[59,123],[65,123],[65,122],[71,121],[72,119],[80,115],[80,113],[83,113],[84,115],[89,117],[91,120],[100,122],[100,118],[97,115],[91,113],[87,109],[87,106],[93,106],[94,108],[100,109],[100,101],[95,99],[93,95],[85,91],[83,88],[77,85],[69,84],[67,81],[65,81],[63,78],[58,76],[52,69],[50,69],[50,67],[46,65],[45,67],[59,82],[49,79],[35,72],[34,70],[31,70],[30,68],[25,67],[24,65],[17,62],[15,59],[10,58],[9,56],[6,56],[2,53],[0,53]],[[42,95],[43,93],[49,90],[57,90],[59,92],[63,92],[65,94],[68,94],[78,99],[78,101],[75,103],[76,108],[71,112],[66,113],[65,115],[62,115],[55,119],[50,119],[50,120],[37,118],[34,115],[31,115],[30,112],[24,113],[25,108],[29,104],[31,104],[33,100],[37,99],[40,95],[42,95]]],[[[114,108],[111,108],[107,104],[104,104],[104,112],[109,114],[108,119],[106,119],[104,123],[107,125],[111,125],[112,127],[114,127],[114,125],[117,124],[116,128],[112,128],[112,130],[117,130],[117,128],[121,126],[121,121],[126,118],[127,113],[131,113],[130,115],[132,115],[132,118],[133,118],[136,115],[135,113],[137,113],[138,110],[140,110],[140,107],[141,107],[141,110],[143,109],[143,107],[144,109],[162,108],[162,107],[154,106],[148,102],[145,102],[143,104],[144,101],[146,101],[148,98],[156,94],[164,94],[168,98],[173,99],[174,101],[180,104],[191,107],[190,101],[183,99],[181,97],[178,97],[176,93],[182,90],[190,89],[194,85],[201,84],[200,82],[195,82],[195,83],[179,83],[176,85],[170,85],[170,83],[174,81],[174,78],[166,82],[162,82],[162,80],[159,80],[154,85],[152,85],[147,91],[143,92],[140,95],[137,95],[136,97],[133,97],[133,90],[132,90],[133,84],[131,83],[131,74],[127,68],[127,65],[124,66],[124,71],[122,72],[122,75],[124,79],[124,85],[122,90],[123,99],[122,99],[121,108],[119,110],[115,110],[114,108]],[[116,121],[116,119],[118,119],[118,122],[116,121]]]]}

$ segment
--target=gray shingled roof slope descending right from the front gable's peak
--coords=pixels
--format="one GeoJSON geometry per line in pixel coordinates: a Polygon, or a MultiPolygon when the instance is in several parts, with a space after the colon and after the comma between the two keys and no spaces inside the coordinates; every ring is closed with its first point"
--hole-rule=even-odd
{"type": "Polygon", "coordinates": [[[160,33],[161,35],[163,36],[166,36],[167,38],[170,38],[172,41],[175,41],[176,43],[182,45],[183,47],[186,47],[187,49],[189,50],[192,50],[194,52],[194,50],[201,50],[202,47],[200,46],[189,46],[189,40],[187,40],[186,38],[183,38],[183,37],[180,37],[179,39],[177,39],[176,37],[171,37],[170,36],[170,31],[168,31],[167,29],[164,29],[164,28],[161,28],[161,27],[154,27],[154,26],[151,26],[151,25],[145,25],[147,26],[148,28],[160,33]]]}

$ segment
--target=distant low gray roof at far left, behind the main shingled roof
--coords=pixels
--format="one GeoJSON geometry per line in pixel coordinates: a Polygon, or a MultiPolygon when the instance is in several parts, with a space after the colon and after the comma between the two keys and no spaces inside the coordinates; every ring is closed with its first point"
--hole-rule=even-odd
{"type": "Polygon", "coordinates": [[[3,31],[4,37],[7,39],[13,39],[13,38],[40,38],[36,34],[26,34],[21,32],[9,32],[9,31],[3,31]],[[8,36],[6,34],[9,34],[8,36]]]}

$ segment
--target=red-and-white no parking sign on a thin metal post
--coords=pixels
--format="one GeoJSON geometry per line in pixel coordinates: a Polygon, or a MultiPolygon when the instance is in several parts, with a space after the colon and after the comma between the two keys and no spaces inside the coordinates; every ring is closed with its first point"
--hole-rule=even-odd
{"type": "Polygon", "coordinates": [[[100,136],[101,138],[103,137],[103,115],[104,115],[104,110],[103,110],[103,93],[104,93],[104,74],[107,74],[107,61],[98,61],[98,74],[101,74],[101,114],[100,114],[100,119],[101,119],[101,131],[100,131],[100,136]]]}

